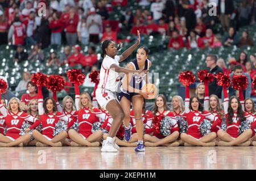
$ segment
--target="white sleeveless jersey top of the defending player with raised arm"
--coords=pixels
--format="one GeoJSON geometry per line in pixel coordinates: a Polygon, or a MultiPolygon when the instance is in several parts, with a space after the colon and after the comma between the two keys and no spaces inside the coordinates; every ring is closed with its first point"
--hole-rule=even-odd
{"type": "Polygon", "coordinates": [[[112,92],[116,92],[118,90],[118,85],[121,77],[119,73],[110,69],[110,66],[112,64],[119,65],[119,60],[119,56],[115,56],[114,58],[111,58],[107,55],[105,56],[101,64],[100,82],[98,84],[98,87],[110,90],[112,92]]]}

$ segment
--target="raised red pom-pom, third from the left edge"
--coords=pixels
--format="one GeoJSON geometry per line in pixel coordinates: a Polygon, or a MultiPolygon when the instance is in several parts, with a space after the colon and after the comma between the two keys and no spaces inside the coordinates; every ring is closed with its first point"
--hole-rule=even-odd
{"type": "Polygon", "coordinates": [[[56,92],[64,89],[64,78],[60,75],[50,75],[47,77],[47,89],[56,92]]]}

